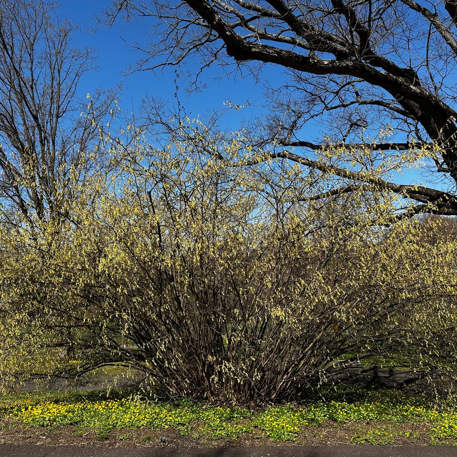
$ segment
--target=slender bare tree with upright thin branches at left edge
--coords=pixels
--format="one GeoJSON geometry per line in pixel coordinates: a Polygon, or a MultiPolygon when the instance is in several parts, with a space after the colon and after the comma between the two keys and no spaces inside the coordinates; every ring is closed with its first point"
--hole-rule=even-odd
{"type": "Polygon", "coordinates": [[[115,99],[108,89],[78,99],[92,51],[72,46],[76,27],[55,9],[13,1],[0,11],[0,202],[29,220],[65,217],[72,180],[99,162],[99,124],[115,99]]]}

